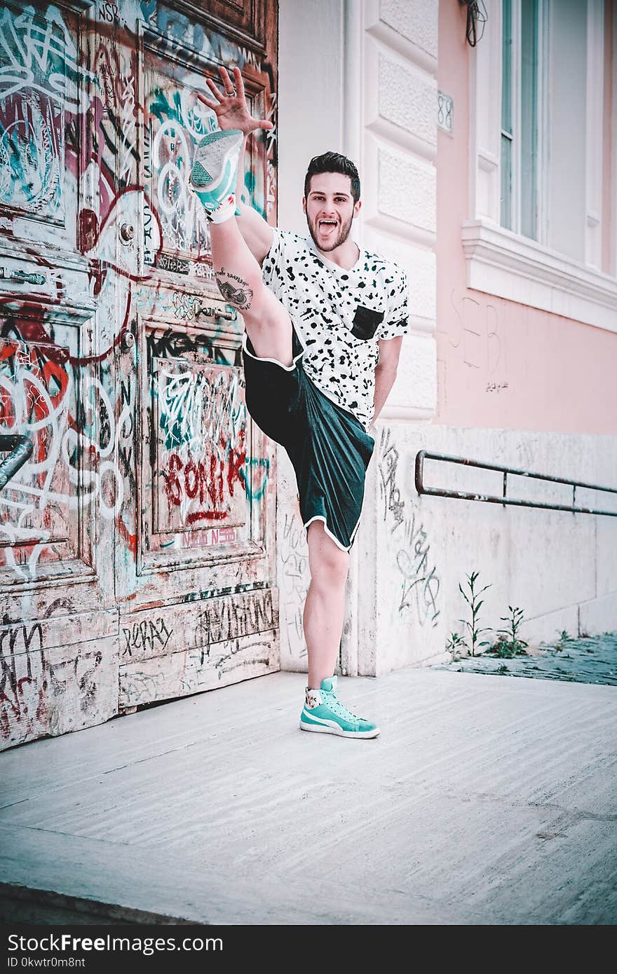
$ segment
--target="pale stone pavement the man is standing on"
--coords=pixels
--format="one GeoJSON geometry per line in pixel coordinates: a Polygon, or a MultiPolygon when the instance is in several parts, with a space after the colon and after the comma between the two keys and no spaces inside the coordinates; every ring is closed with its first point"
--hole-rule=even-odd
{"type": "Polygon", "coordinates": [[[614,923],[617,689],[276,673],[0,755],[5,920],[614,923]]]}

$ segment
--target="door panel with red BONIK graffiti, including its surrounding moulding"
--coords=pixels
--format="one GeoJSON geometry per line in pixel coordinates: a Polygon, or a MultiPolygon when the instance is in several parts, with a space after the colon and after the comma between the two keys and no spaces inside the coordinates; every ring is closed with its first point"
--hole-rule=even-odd
{"type": "Polygon", "coordinates": [[[140,518],[127,606],[137,611],[206,585],[261,585],[272,573],[274,448],[247,413],[237,323],[150,319],[137,330],[130,449],[140,518]]]}

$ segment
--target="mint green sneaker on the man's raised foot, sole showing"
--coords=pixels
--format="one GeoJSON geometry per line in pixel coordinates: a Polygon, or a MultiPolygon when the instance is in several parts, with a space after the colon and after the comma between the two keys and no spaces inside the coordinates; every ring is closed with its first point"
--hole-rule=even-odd
{"type": "Polygon", "coordinates": [[[222,223],[236,212],[236,178],[243,139],[238,129],[211,131],[197,147],[188,186],[203,203],[212,223],[222,223]]]}

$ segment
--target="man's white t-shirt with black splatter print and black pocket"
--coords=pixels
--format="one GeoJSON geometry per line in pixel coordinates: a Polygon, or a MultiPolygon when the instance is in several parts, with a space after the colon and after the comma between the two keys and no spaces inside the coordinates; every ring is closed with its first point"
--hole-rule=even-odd
{"type": "Polygon", "coordinates": [[[374,411],[377,343],[405,335],[409,327],[405,272],[366,250],[346,271],[323,257],[311,238],[274,230],[262,276],[289,312],[305,348],[306,374],[367,430],[374,411]]]}

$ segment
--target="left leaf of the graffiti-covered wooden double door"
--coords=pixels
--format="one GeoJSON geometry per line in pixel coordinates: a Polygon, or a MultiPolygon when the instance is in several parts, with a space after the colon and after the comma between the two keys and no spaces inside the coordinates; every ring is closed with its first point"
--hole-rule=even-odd
{"type": "Polygon", "coordinates": [[[78,232],[96,91],[87,36],[78,9],[0,8],[0,461],[15,435],[32,451],[0,491],[3,746],[118,707],[118,613],[101,556],[119,482],[115,322],[97,323],[78,232]]]}

